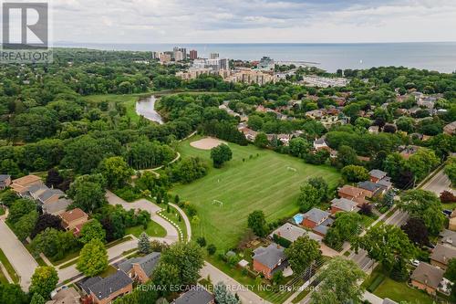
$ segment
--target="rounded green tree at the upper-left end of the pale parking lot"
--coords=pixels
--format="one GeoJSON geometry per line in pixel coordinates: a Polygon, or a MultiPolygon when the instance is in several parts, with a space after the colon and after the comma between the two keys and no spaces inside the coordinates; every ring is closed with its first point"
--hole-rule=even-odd
{"type": "Polygon", "coordinates": [[[98,171],[108,183],[109,188],[119,189],[130,180],[133,170],[120,156],[104,159],[99,163],[98,171]]]}

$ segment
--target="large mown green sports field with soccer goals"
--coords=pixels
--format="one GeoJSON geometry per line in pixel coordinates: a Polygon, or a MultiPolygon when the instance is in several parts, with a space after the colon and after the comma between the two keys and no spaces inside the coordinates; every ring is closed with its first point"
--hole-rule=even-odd
{"type": "Polygon", "coordinates": [[[201,223],[192,225],[192,236],[204,236],[218,249],[236,245],[246,229],[247,216],[254,210],[263,210],[268,221],[297,213],[299,188],[309,177],[322,176],[335,186],[340,176],[329,166],[309,165],[288,155],[233,143],[229,144],[233,160],[222,169],[214,169],[210,151],[190,146],[198,139],[195,136],[181,142],[179,152],[182,157],[202,157],[211,163],[211,169],[198,181],[176,186],[173,194],[197,208],[201,223]],[[223,202],[223,206],[212,204],[213,200],[223,202]]]}

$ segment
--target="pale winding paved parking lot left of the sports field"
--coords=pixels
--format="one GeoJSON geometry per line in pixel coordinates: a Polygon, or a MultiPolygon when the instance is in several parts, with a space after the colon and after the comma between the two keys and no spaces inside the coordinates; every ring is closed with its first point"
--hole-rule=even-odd
{"type": "Polygon", "coordinates": [[[158,205],[153,204],[150,201],[143,198],[133,203],[129,203],[121,199],[116,194],[113,194],[109,190],[106,191],[106,198],[109,204],[121,204],[125,210],[141,209],[148,211],[150,213],[150,218],[152,219],[152,221],[156,222],[157,224],[165,228],[166,239],[168,239],[171,242],[177,242],[179,240],[179,232],[177,231],[176,227],[171,225],[170,222],[166,221],[160,215],[157,214],[159,211],[161,211],[161,207],[159,207],[158,205]]]}

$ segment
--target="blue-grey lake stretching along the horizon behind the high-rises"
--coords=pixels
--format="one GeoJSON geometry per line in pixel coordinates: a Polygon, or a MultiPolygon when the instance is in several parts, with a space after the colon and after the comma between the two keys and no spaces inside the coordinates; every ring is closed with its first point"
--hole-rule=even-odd
{"type": "Polygon", "coordinates": [[[297,60],[318,63],[334,72],[337,68],[403,66],[451,73],[456,70],[456,42],[354,43],[354,44],[55,44],[56,47],[88,47],[107,50],[165,51],[172,47],[196,49],[200,57],[219,53],[222,58],[297,60]]]}

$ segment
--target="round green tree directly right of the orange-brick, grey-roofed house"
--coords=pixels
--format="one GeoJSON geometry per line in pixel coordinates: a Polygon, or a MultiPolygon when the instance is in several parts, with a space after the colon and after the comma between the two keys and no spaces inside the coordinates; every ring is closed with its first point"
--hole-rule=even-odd
{"type": "Polygon", "coordinates": [[[290,247],[285,249],[285,255],[295,274],[300,275],[321,257],[320,246],[309,236],[299,236],[290,247]]]}

